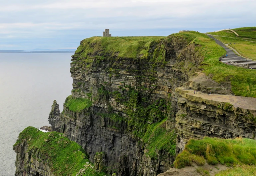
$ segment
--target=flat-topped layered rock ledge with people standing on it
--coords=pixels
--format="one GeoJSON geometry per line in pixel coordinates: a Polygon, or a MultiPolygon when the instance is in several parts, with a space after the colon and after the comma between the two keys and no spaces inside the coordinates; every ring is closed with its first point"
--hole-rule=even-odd
{"type": "Polygon", "coordinates": [[[189,139],[204,136],[219,138],[256,139],[256,98],[198,93],[176,88],[178,102],[176,153],[181,152],[189,139]]]}

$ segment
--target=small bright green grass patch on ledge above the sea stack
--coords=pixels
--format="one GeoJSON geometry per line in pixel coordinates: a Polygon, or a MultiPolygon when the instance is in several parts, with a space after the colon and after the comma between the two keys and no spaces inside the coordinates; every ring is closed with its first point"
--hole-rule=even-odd
{"type": "Polygon", "coordinates": [[[70,111],[79,112],[85,108],[91,107],[92,102],[89,99],[72,98],[72,95],[69,95],[64,104],[70,111]]]}

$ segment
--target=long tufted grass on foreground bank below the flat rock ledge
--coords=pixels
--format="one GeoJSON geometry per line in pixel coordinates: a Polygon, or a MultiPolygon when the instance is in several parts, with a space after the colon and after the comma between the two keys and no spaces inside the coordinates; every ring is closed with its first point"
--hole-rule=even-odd
{"type": "MultiPolygon", "coordinates": [[[[209,164],[256,164],[256,141],[246,138],[218,139],[204,137],[202,140],[191,139],[176,160],[177,168],[184,167],[184,159],[204,157],[209,164]]],[[[197,160],[197,159],[195,159],[197,160]]],[[[198,160],[200,161],[200,160],[198,160]]],[[[197,161],[197,162],[198,162],[197,161]]]]}

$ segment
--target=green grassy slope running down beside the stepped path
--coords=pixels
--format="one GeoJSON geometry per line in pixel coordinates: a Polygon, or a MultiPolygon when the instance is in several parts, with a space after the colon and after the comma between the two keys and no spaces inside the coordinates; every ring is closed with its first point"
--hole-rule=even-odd
{"type": "Polygon", "coordinates": [[[184,32],[173,34],[184,37],[191,43],[199,44],[198,52],[204,56],[200,68],[206,75],[218,83],[231,81],[232,91],[235,95],[256,97],[256,70],[244,69],[226,65],[218,61],[225,54],[225,50],[205,34],[198,32],[184,32]]]}

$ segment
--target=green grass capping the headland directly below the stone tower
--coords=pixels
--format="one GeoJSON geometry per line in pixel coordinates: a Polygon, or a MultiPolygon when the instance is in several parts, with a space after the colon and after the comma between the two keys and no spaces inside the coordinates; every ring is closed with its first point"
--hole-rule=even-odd
{"type": "MultiPolygon", "coordinates": [[[[91,37],[81,41],[75,55],[88,58],[90,55],[117,54],[118,58],[136,59],[140,54],[147,55],[150,45],[159,43],[165,37],[91,37]],[[92,47],[93,46],[93,47],[92,47]]],[[[145,57],[145,56],[144,56],[145,57]]],[[[100,57],[99,57],[100,58],[100,57]]]]}

